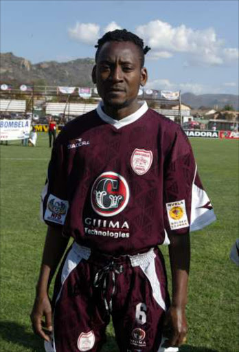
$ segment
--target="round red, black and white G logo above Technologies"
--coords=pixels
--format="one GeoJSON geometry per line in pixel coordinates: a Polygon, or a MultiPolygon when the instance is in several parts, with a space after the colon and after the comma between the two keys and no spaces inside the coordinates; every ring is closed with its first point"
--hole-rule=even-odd
{"type": "Polygon", "coordinates": [[[112,217],[128,204],[129,188],[124,177],[111,171],[102,173],[91,189],[91,206],[97,214],[112,217]]]}

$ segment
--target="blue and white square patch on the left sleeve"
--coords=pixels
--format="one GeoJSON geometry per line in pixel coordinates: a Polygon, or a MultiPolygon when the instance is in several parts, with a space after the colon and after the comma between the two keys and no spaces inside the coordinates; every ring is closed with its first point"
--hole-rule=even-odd
{"type": "Polygon", "coordinates": [[[44,220],[64,225],[67,216],[69,202],[59,199],[54,195],[49,195],[47,209],[45,210],[44,220]]]}

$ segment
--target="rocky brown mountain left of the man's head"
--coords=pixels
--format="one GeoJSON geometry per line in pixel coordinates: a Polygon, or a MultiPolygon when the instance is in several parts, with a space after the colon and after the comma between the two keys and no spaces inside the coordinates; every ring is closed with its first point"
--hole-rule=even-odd
{"type": "Polygon", "coordinates": [[[0,54],[1,83],[19,83],[52,86],[92,86],[91,71],[93,58],[58,63],[44,61],[32,64],[25,58],[17,57],[12,52],[0,54]]]}

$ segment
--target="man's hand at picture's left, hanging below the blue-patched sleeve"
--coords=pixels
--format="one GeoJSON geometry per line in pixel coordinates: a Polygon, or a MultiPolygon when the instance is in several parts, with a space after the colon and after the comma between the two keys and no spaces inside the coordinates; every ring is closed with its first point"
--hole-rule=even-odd
{"type": "Polygon", "coordinates": [[[52,306],[47,294],[36,296],[30,318],[34,333],[41,336],[45,341],[50,341],[49,335],[52,333],[52,306]],[[43,317],[45,317],[45,322],[42,320],[43,317]]]}

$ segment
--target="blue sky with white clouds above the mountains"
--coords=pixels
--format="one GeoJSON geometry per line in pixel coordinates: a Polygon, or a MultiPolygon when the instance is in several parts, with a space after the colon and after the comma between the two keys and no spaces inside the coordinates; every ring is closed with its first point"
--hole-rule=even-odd
{"type": "Polygon", "coordinates": [[[148,88],[238,94],[238,4],[1,0],[0,50],[31,63],[93,58],[105,32],[126,28],[151,47],[145,63],[148,88]]]}

